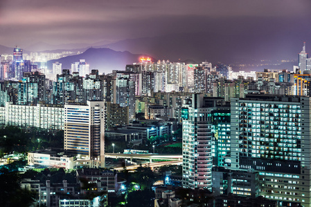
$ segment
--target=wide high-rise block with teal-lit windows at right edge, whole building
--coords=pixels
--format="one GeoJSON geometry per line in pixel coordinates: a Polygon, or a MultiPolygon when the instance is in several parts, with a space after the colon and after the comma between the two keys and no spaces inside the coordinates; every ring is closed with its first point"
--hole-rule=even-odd
{"type": "Polygon", "coordinates": [[[311,206],[310,97],[231,99],[231,170],[259,172],[260,195],[311,206]]]}

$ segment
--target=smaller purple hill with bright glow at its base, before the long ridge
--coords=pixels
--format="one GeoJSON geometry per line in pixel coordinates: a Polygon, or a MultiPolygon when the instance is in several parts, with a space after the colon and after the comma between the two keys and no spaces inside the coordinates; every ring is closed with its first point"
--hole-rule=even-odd
{"type": "MultiPolygon", "coordinates": [[[[48,61],[48,68],[52,68],[53,63],[62,63],[63,69],[71,68],[71,63],[85,59],[89,63],[90,70],[97,69],[100,73],[112,72],[112,70],[125,70],[125,65],[139,61],[139,57],[148,55],[132,54],[131,52],[117,52],[109,48],[89,48],[80,55],[72,55],[48,61]]],[[[152,61],[154,59],[152,58],[152,61]]]]}

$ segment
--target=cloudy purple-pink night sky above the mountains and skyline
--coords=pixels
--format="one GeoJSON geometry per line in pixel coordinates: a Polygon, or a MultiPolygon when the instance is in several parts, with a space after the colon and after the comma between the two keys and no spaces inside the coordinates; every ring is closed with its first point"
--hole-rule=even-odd
{"type": "Polygon", "coordinates": [[[226,44],[259,51],[253,47],[263,45],[263,52],[279,46],[296,55],[311,42],[310,25],[310,0],[0,0],[0,45],[9,47],[202,32],[224,42],[220,51],[226,44]]]}

